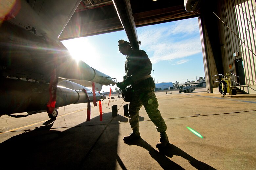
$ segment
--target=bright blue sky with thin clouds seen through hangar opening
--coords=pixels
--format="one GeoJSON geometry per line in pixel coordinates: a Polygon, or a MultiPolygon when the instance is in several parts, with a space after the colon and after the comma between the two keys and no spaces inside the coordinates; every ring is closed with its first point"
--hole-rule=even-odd
{"type": "MultiPolygon", "coordinates": [[[[140,49],[146,51],[152,62],[151,76],[156,83],[182,83],[205,76],[197,18],[139,27],[137,34],[140,49]]],[[[120,39],[128,41],[125,31],[61,42],[75,59],[120,82],[125,75],[126,59],[118,51],[120,39]]],[[[109,92],[109,86],[103,86],[101,91],[109,92]]]]}

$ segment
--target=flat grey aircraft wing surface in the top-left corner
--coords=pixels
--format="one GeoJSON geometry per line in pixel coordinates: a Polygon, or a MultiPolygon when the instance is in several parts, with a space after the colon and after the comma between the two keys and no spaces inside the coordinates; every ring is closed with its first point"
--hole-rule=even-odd
{"type": "Polygon", "coordinates": [[[80,2],[81,0],[1,0],[1,6],[6,7],[7,16],[13,16],[8,18],[9,22],[31,32],[35,28],[37,35],[57,39],[80,2]]]}

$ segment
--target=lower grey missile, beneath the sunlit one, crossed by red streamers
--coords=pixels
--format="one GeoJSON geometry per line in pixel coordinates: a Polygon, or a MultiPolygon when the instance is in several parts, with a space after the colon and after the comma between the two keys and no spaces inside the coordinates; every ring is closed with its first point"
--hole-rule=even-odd
{"type": "MultiPolygon", "coordinates": [[[[46,110],[49,100],[49,84],[1,78],[0,84],[0,115],[30,111],[46,110]]],[[[57,86],[57,99],[55,108],[93,101],[93,93],[84,87],[90,98],[88,101],[82,89],[70,89],[57,86]]],[[[105,95],[97,92],[96,101],[106,99],[105,95]]]]}

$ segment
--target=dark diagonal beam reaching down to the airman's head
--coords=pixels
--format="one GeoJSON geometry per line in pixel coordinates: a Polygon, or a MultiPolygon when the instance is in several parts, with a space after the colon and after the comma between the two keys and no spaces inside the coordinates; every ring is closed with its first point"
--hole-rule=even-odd
{"type": "Polygon", "coordinates": [[[133,50],[139,50],[139,41],[130,0],[112,0],[133,50]]]}

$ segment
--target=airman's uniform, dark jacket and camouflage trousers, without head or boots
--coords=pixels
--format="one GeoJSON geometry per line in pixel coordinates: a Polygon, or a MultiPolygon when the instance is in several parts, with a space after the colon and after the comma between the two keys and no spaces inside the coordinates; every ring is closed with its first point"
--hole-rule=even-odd
{"type": "Polygon", "coordinates": [[[151,74],[152,64],[145,51],[139,50],[126,57],[126,76],[131,76],[133,96],[129,105],[130,125],[133,129],[139,128],[139,110],[144,106],[150,120],[155,124],[158,132],[164,132],[167,126],[158,110],[158,101],[155,95],[155,83],[153,78],[146,77],[151,74]],[[141,80],[142,79],[142,80],[141,80]]]}

